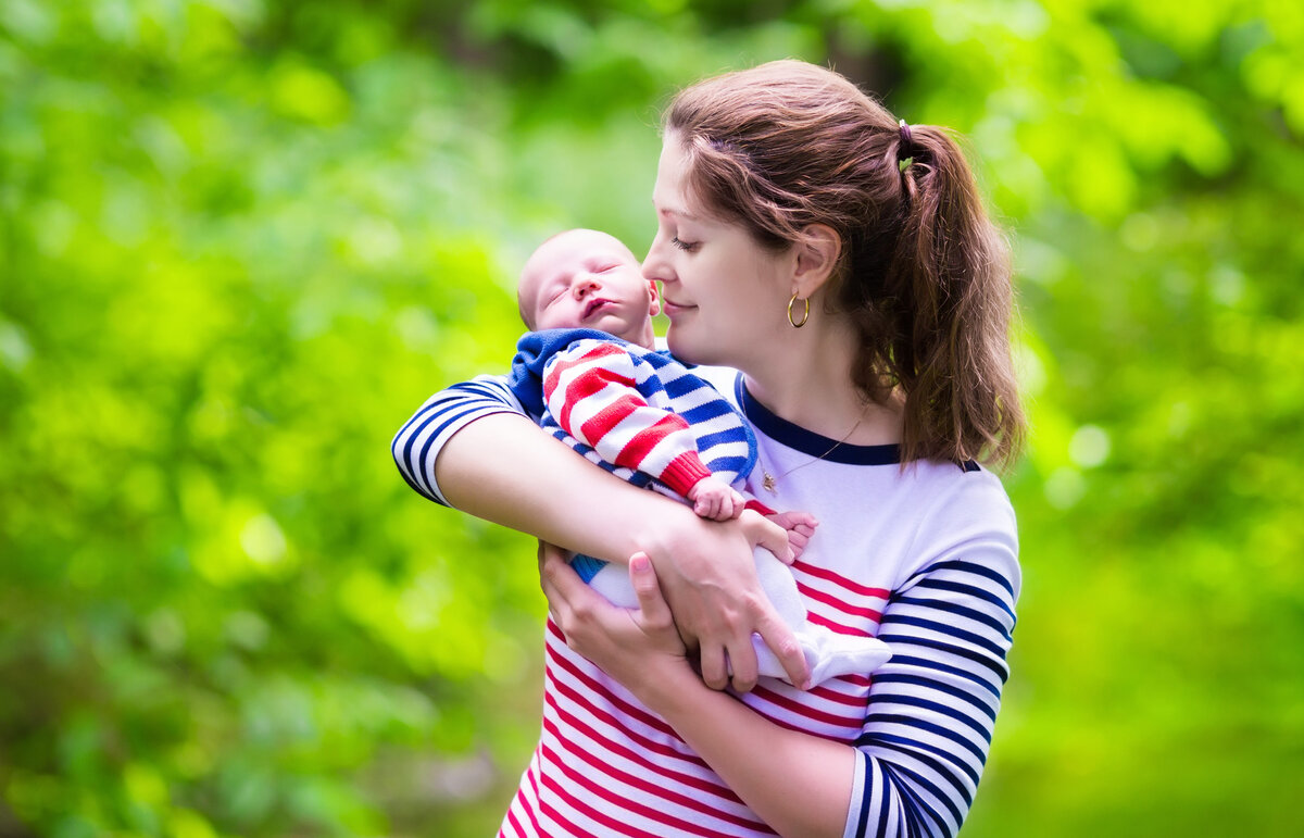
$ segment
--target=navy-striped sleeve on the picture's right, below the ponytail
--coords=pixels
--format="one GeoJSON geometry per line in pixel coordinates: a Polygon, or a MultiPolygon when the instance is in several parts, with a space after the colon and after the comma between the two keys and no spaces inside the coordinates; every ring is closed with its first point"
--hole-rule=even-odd
{"type": "Polygon", "coordinates": [[[951,838],[973,805],[1009,676],[1020,573],[1004,492],[969,500],[925,522],[922,566],[884,607],[892,659],[872,675],[855,743],[848,838],[951,838]]]}

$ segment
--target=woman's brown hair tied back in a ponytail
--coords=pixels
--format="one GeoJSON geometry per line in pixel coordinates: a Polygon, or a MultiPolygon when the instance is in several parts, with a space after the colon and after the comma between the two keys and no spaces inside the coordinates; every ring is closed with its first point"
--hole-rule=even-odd
{"type": "Polygon", "coordinates": [[[772,61],[687,87],[666,134],[708,211],[782,251],[808,225],[842,239],[829,305],[854,321],[854,384],[905,396],[902,463],[1009,465],[1024,439],[1009,256],[940,128],[898,125],[833,70],[772,61]]]}

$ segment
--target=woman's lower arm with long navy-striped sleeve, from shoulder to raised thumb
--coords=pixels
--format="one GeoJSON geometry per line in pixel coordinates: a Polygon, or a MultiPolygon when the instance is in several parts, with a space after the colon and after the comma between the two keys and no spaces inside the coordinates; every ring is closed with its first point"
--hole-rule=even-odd
{"type": "Polygon", "coordinates": [[[567,644],[665,718],[780,834],[949,837],[973,804],[1007,676],[1018,566],[1013,521],[1007,529],[1000,514],[953,514],[935,539],[945,544],[928,544],[892,595],[879,637],[893,658],[874,672],[854,747],[703,688],[642,563],[631,561],[640,611],[606,606],[550,555],[544,590],[567,644]]]}

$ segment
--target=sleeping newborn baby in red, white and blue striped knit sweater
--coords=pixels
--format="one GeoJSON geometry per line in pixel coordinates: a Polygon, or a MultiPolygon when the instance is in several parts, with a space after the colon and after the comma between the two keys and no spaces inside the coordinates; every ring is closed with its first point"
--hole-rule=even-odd
{"type": "MultiPolygon", "coordinates": [[[[516,346],[511,388],[545,429],[631,483],[687,500],[704,518],[756,509],[788,531],[793,555],[801,555],[814,516],[776,513],[734,488],[756,462],[755,435],[709,384],[655,350],[656,283],[629,248],[596,230],[558,234],[526,261],[516,295],[531,332],[516,346]]],[[[882,641],[808,621],[789,569],[763,548],[755,559],[812,684],[887,662],[892,653],[882,641]]],[[[571,566],[614,604],[638,607],[623,568],[589,556],[576,556],[571,566]]],[[[785,677],[773,653],[759,637],[752,641],[760,674],[785,677]]]]}

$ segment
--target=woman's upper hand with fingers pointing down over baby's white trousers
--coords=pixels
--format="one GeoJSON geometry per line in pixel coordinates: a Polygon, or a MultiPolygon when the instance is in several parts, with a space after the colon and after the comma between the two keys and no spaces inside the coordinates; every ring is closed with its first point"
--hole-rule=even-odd
{"type": "Polygon", "coordinates": [[[677,521],[682,526],[662,523],[636,542],[648,546],[674,625],[687,647],[699,654],[702,680],[712,689],[732,684],[747,692],[755,687],[756,633],[790,681],[805,684],[810,677],[806,658],[762,590],[752,557],[755,547],[764,547],[792,564],[788,533],[750,509],[719,523],[696,516],[677,521]]]}

